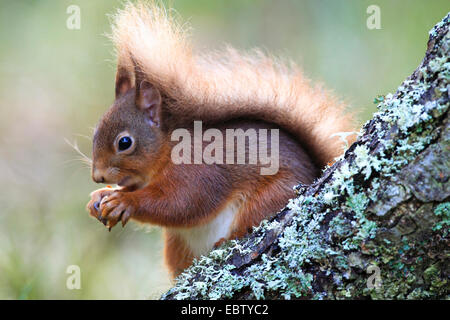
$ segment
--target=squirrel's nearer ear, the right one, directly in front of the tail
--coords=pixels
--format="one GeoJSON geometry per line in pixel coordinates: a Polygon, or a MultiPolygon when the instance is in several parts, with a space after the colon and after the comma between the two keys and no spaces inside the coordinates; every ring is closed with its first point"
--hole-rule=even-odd
{"type": "Polygon", "coordinates": [[[159,127],[161,121],[162,98],[159,90],[150,82],[143,80],[136,84],[136,106],[145,111],[146,120],[159,127]]]}

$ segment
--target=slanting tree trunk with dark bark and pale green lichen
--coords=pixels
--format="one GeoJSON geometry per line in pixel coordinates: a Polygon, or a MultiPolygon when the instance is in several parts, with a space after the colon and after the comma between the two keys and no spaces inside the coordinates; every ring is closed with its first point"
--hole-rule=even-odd
{"type": "Polygon", "coordinates": [[[421,65],[313,185],[163,299],[449,298],[450,14],[421,65]]]}

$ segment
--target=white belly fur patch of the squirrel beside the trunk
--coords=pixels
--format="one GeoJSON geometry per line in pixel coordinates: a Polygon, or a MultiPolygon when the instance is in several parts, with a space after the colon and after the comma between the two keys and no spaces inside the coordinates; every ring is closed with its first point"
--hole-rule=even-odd
{"type": "Polygon", "coordinates": [[[172,229],[172,231],[185,241],[194,257],[199,257],[211,251],[217,241],[230,236],[239,207],[237,201],[231,202],[206,224],[193,228],[172,229]]]}

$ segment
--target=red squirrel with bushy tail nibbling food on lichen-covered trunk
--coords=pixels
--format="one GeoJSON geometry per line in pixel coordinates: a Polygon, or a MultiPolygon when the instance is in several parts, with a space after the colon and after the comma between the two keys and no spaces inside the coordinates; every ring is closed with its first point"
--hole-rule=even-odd
{"type": "MultiPolygon", "coordinates": [[[[92,192],[87,209],[108,228],[130,219],[163,227],[172,276],[281,210],[294,186],[312,183],[343,151],[332,135],[352,131],[343,104],[295,66],[230,47],[194,54],[185,30],[162,6],[127,4],[114,18],[112,39],[116,98],[95,129],[92,178],[118,187],[92,192]],[[277,170],[261,174],[267,163],[248,161],[250,139],[232,150],[234,160],[244,150],[244,163],[225,161],[227,145],[214,151],[224,161],[175,163],[174,132],[194,134],[195,121],[224,137],[242,129],[259,139],[277,129],[277,170]]],[[[200,143],[203,152],[209,141],[200,143]]]]}

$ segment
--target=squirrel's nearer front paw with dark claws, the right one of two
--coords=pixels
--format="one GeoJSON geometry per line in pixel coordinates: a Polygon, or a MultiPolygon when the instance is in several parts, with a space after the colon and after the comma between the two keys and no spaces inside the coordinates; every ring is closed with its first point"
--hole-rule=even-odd
{"type": "Polygon", "coordinates": [[[136,211],[135,201],[129,192],[114,192],[100,202],[101,219],[106,220],[106,227],[112,228],[119,221],[124,227],[136,211]]]}

